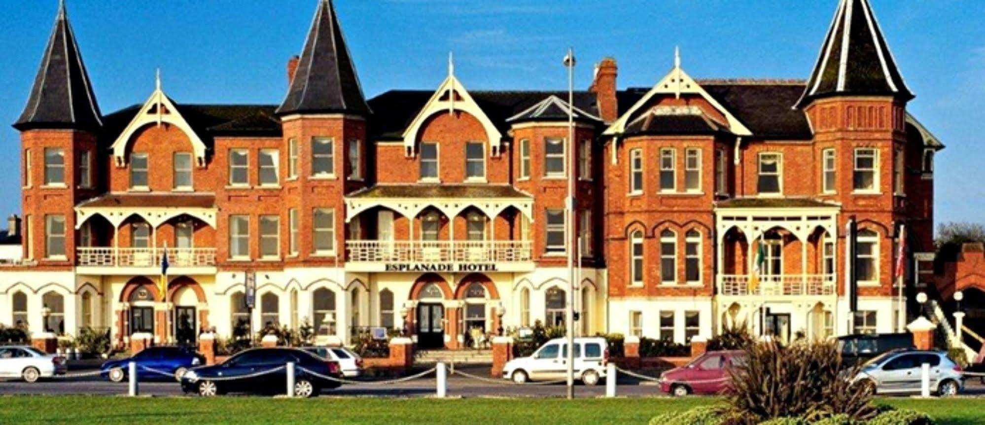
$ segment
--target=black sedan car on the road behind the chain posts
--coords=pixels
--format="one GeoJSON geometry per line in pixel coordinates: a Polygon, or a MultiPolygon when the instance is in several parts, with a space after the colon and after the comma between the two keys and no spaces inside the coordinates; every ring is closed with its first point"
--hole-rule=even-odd
{"type": "Polygon", "coordinates": [[[203,396],[227,392],[285,393],[288,362],[295,363],[297,396],[313,397],[323,389],[340,385],[338,381],[323,378],[342,378],[342,369],[337,362],[296,348],[278,347],[246,350],[222,364],[194,368],[181,377],[181,390],[203,396]],[[274,372],[264,373],[266,371],[274,372]]]}

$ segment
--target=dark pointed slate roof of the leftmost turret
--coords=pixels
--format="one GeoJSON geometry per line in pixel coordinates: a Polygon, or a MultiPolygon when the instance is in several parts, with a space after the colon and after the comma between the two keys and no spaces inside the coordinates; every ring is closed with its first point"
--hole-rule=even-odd
{"type": "Polygon", "coordinates": [[[97,130],[101,125],[96,95],[62,2],[28,104],[14,127],[97,130]]]}

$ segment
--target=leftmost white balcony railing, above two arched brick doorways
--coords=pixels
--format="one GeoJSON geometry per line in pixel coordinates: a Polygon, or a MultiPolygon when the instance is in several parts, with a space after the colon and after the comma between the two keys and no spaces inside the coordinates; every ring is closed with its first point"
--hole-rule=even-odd
{"type": "MultiPolygon", "coordinates": [[[[171,267],[216,265],[216,248],[167,248],[171,267]]],[[[160,267],[164,248],[76,248],[78,265],[96,267],[160,267]]]]}

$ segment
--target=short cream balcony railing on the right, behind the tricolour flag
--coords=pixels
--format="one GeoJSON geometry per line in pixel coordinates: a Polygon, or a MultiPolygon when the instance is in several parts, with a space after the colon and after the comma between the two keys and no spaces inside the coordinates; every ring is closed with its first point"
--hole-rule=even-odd
{"type": "Polygon", "coordinates": [[[834,295],[833,274],[784,274],[779,276],[760,276],[755,290],[750,288],[749,275],[718,275],[718,292],[733,296],[802,296],[834,295]]]}

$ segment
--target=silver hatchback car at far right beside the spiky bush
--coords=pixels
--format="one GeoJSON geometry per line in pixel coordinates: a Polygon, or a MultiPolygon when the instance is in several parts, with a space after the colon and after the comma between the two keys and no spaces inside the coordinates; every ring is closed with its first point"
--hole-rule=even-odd
{"type": "Polygon", "coordinates": [[[872,386],[877,393],[920,392],[923,364],[930,365],[930,390],[941,396],[964,390],[961,367],[938,351],[889,351],[863,365],[855,382],[872,386]]]}

